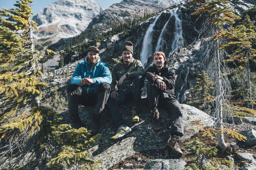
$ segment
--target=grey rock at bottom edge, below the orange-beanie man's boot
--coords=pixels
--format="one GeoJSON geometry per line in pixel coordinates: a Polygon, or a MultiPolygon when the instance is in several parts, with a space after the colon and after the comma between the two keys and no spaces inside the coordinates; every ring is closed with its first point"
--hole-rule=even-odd
{"type": "Polygon", "coordinates": [[[179,159],[170,159],[170,160],[163,160],[163,159],[156,159],[152,160],[146,164],[144,169],[185,169],[186,162],[179,160],[179,159]]]}

